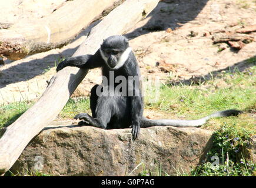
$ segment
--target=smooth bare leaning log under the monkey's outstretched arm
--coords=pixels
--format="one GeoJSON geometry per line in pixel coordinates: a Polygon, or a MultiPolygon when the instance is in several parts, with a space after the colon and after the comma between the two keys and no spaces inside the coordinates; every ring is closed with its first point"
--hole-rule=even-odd
{"type": "MultiPolygon", "coordinates": [[[[125,1],[92,28],[88,38],[73,56],[94,54],[104,38],[129,31],[158,2],[159,0],[125,1]]],[[[6,127],[0,139],[0,174],[10,169],[30,140],[55,119],[87,72],[88,70],[66,67],[56,73],[35,105],[6,127]]]]}

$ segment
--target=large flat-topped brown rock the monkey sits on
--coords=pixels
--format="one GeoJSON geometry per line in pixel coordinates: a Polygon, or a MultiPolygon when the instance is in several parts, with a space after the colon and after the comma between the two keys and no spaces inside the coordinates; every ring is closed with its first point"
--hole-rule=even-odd
{"type": "Polygon", "coordinates": [[[189,172],[204,159],[212,132],[200,128],[150,127],[135,142],[131,129],[52,125],[26,146],[11,171],[60,176],[124,176],[160,168],[169,175],[189,172]]]}

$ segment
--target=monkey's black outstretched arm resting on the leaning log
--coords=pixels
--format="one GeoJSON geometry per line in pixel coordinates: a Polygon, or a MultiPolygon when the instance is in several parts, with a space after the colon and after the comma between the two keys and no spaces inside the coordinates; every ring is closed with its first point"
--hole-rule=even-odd
{"type": "Polygon", "coordinates": [[[59,63],[56,71],[58,72],[66,66],[76,66],[81,69],[94,69],[102,66],[102,63],[104,63],[104,60],[101,58],[98,50],[94,55],[81,55],[67,58],[59,63]]]}

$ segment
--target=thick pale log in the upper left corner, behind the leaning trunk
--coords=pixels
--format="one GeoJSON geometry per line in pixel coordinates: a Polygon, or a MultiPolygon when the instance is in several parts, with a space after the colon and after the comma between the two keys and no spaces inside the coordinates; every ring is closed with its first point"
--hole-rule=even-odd
{"type": "Polygon", "coordinates": [[[16,24],[0,23],[0,56],[18,60],[67,45],[114,2],[122,0],[67,1],[44,18],[16,24]]]}

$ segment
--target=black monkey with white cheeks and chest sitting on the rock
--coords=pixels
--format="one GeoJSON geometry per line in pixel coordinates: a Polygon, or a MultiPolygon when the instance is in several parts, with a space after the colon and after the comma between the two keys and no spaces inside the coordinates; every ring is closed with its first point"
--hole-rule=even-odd
{"type": "Polygon", "coordinates": [[[94,55],[81,55],[65,59],[59,63],[56,71],[58,72],[66,66],[76,66],[80,69],[101,68],[102,76],[107,78],[107,83],[92,87],[90,96],[92,116],[88,113],[79,113],[74,117],[74,119],[81,120],[78,125],[91,125],[102,129],[132,127],[133,140],[138,137],[141,127],[200,127],[211,117],[237,116],[242,113],[235,109],[223,110],[197,120],[152,120],[144,117],[141,85],[136,84],[134,79],[129,79],[136,76],[140,79],[139,65],[129,46],[128,39],[122,35],[109,36],[94,55]],[[111,73],[114,74],[114,80],[119,78],[118,76],[125,78],[127,81],[126,91],[117,91],[117,83],[112,83],[113,81],[110,80],[111,73]],[[109,95],[111,92],[114,95],[109,95]]]}

